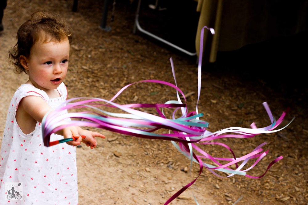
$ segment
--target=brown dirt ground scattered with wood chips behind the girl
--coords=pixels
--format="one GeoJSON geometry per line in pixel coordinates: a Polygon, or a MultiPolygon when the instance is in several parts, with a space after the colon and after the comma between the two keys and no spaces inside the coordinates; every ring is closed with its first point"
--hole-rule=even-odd
{"type": "MultiPolygon", "coordinates": [[[[25,74],[13,72],[8,62],[8,50],[15,44],[18,27],[37,10],[61,14],[73,30],[70,65],[65,80],[69,98],[99,97],[108,100],[123,86],[140,80],[157,79],[174,83],[169,61],[172,57],[178,87],[185,94],[190,93],[188,109],[195,110],[196,59],[140,33],[134,34],[136,2],[117,1],[113,22],[110,21],[111,7],[108,13],[107,25],[111,31],[99,29],[103,2],[80,0],[77,12],[72,12],[73,0],[8,1],[3,18],[4,31],[0,33],[1,137],[10,99],[18,86],[27,80],[25,74]]],[[[290,107],[283,124],[294,116],[295,120],[280,132],[245,140],[223,140],[236,156],[251,152],[263,142],[268,143],[265,149],[270,152],[248,171],[250,175],[263,174],[267,165],[278,156],[282,155],[284,159],[274,164],[260,179],[245,176],[218,178],[204,170],[196,183],[170,204],[196,204],[194,196],[199,204],[204,205],[308,204],[305,171],[307,88],[305,77],[299,73],[300,64],[295,61],[292,66],[291,63],[286,65],[288,58],[285,53],[278,56],[282,63],[267,62],[257,72],[253,68],[257,67],[256,64],[261,65],[262,59],[247,58],[250,56],[247,52],[222,52],[217,63],[203,66],[198,110],[204,113],[203,120],[209,122],[209,131],[214,132],[231,126],[249,128],[252,122],[258,127],[269,125],[270,120],[262,106],[265,101],[277,119],[290,107]],[[241,52],[243,59],[235,61],[241,57],[241,52]],[[288,67],[282,67],[284,65],[288,67]],[[301,81],[302,84],[298,83],[301,81]]],[[[176,100],[174,90],[162,85],[138,84],[121,94],[116,102],[157,103],[168,100],[176,100]]],[[[77,148],[80,205],[164,204],[198,175],[196,163],[190,173],[189,159],[169,141],[93,130],[103,133],[106,139],[98,139],[99,146],[93,150],[86,146],[77,148]]],[[[208,146],[204,150],[212,156],[231,157],[230,154],[224,156],[224,150],[218,147],[208,146]]]]}

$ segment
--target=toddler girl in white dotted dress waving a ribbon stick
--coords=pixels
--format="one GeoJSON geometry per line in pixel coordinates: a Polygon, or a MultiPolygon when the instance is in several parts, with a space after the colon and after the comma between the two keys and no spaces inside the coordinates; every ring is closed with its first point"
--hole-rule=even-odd
{"type": "Polygon", "coordinates": [[[78,203],[75,146],[82,141],[92,149],[95,137],[104,136],[71,126],[52,134],[51,141],[63,136],[77,140],[45,147],[40,123],[67,100],[63,81],[71,41],[70,30],[56,14],[35,12],[18,30],[10,59],[16,72],[25,72],[29,80],[15,92],[7,114],[1,146],[1,205],[12,204],[7,187],[15,183],[22,185],[22,199],[14,204],[78,203]]]}

